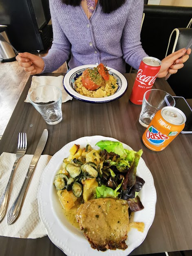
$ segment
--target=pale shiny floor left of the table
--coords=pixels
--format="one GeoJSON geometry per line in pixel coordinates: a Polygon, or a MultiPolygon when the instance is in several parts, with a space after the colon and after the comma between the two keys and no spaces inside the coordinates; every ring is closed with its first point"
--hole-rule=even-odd
{"type": "MultiPolygon", "coordinates": [[[[46,53],[35,54],[46,55],[46,53]]],[[[54,71],[57,72],[66,72],[66,64],[54,71]]],[[[3,135],[28,79],[29,74],[19,66],[18,61],[0,62],[0,136],[3,135]]]]}

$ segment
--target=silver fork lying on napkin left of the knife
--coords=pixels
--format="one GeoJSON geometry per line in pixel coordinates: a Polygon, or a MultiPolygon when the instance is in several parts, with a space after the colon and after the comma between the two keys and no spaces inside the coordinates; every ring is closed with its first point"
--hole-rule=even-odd
{"type": "Polygon", "coordinates": [[[5,215],[5,212],[6,212],[6,209],[7,209],[7,199],[8,199],[9,189],[10,189],[11,180],[12,180],[12,177],[13,177],[15,167],[16,167],[19,159],[24,156],[24,154],[26,152],[26,146],[27,146],[26,133],[21,133],[20,132],[19,137],[18,137],[18,149],[17,149],[17,152],[16,152],[16,160],[15,160],[15,163],[13,164],[11,175],[9,177],[9,181],[7,183],[5,191],[2,195],[2,197],[0,198],[0,222],[4,218],[4,215],[5,215]]]}

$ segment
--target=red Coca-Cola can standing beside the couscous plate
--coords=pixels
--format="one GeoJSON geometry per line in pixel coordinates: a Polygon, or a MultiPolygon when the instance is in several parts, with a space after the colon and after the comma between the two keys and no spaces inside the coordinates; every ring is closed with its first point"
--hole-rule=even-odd
{"type": "Polygon", "coordinates": [[[143,95],[150,90],[161,68],[161,60],[154,57],[144,57],[139,66],[137,77],[132,88],[130,101],[134,104],[141,105],[143,95]]]}

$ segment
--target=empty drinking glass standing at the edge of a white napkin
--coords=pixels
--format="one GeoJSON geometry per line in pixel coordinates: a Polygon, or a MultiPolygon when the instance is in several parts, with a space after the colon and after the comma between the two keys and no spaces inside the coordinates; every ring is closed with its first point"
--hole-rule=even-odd
{"type": "Polygon", "coordinates": [[[29,94],[29,101],[42,115],[47,124],[62,120],[62,92],[57,86],[43,85],[29,94]]]}

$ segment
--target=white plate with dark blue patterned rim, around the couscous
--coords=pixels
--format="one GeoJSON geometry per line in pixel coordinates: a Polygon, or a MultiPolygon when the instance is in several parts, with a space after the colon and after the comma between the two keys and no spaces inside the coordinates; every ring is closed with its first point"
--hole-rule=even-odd
{"type": "Polygon", "coordinates": [[[79,99],[83,102],[89,102],[89,103],[104,103],[104,102],[112,102],[115,99],[119,99],[121,96],[124,95],[127,89],[127,80],[119,71],[106,67],[109,69],[109,74],[113,75],[117,79],[118,89],[117,91],[108,97],[104,98],[92,98],[87,97],[84,95],[81,95],[76,92],[75,90],[75,80],[82,75],[83,71],[86,70],[86,68],[95,68],[97,65],[84,65],[79,66],[77,68],[73,68],[70,71],[66,73],[63,79],[63,86],[66,92],[74,97],[75,99],[79,99]]]}

